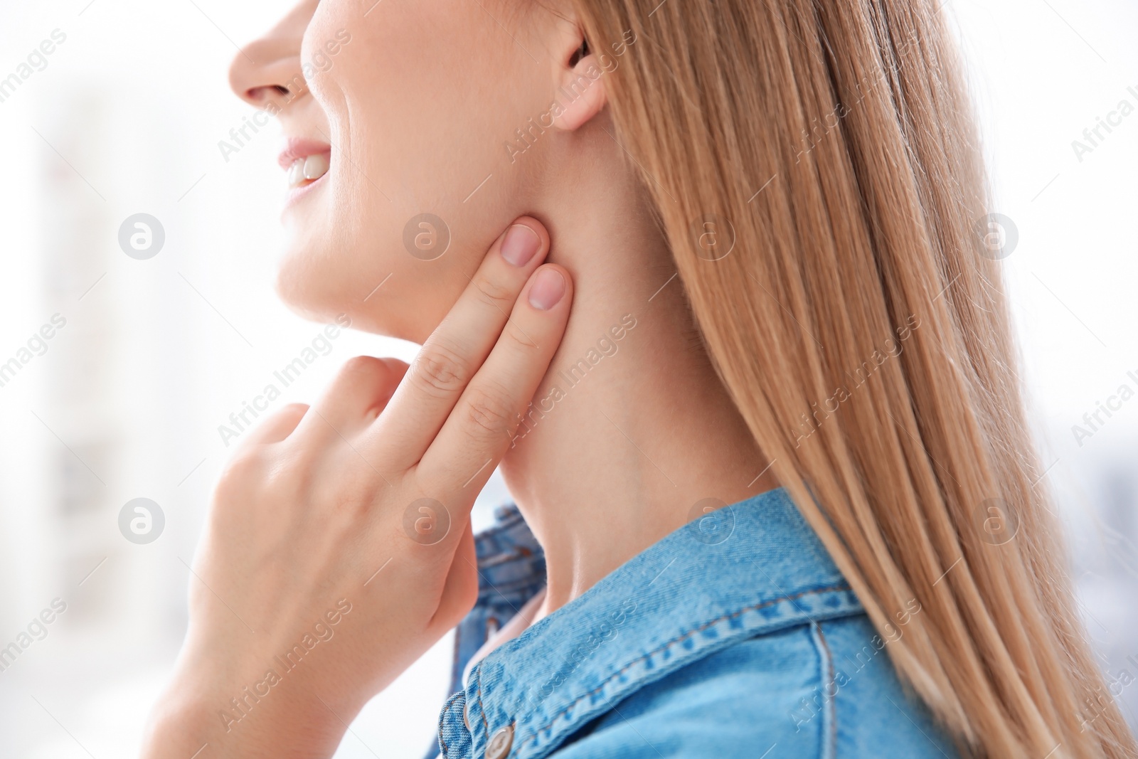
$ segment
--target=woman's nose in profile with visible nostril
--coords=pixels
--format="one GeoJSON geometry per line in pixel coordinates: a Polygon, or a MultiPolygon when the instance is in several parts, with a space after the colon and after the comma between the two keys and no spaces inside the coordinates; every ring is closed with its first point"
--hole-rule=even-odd
{"type": "Polygon", "coordinates": [[[237,97],[277,114],[308,91],[300,66],[300,41],[318,5],[319,0],[304,0],[233,57],[229,85],[237,97]]]}

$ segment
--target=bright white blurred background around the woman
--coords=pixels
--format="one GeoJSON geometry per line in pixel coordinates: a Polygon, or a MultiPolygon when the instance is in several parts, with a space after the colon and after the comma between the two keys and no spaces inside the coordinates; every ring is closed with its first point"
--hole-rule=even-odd
{"type": "MultiPolygon", "coordinates": [[[[0,757],[133,756],[184,632],[188,564],[232,445],[220,427],[267,385],[277,409],[313,399],[352,355],[414,353],[353,332],[314,345],[323,327],[272,290],[275,124],[220,148],[253,113],[229,92],[229,61],[290,5],[0,7],[0,649],[19,649],[0,653],[0,757]],[[138,220],[150,257],[119,244],[124,222],[125,239],[146,237],[138,220]],[[315,358],[284,387],[274,372],[305,348],[315,358]],[[151,502],[135,538],[150,542],[119,528],[135,498],[151,502]]],[[[1080,609],[1138,726],[1138,5],[943,10],[992,211],[1015,238],[1004,266],[1039,486],[1057,496],[1080,609]]],[[[506,497],[492,479],[476,528],[506,497]]],[[[377,696],[336,756],[421,757],[450,653],[442,641],[377,696]]]]}

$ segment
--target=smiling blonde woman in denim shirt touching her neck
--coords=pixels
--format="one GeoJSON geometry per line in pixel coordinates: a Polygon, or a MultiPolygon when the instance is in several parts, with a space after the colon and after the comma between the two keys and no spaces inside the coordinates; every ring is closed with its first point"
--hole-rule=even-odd
{"type": "Polygon", "coordinates": [[[282,297],[424,345],[242,443],[146,756],[331,756],[464,618],[448,759],[1136,756],[941,5],[305,0],[242,49],[282,297]]]}

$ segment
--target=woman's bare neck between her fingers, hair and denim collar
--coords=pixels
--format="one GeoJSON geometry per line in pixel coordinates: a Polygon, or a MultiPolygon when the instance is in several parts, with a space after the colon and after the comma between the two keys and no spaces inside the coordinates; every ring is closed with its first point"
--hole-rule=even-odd
{"type": "Polygon", "coordinates": [[[574,277],[572,314],[502,461],[545,548],[538,618],[685,525],[698,502],[776,486],[758,477],[767,461],[711,368],[643,190],[619,147],[594,139],[612,149],[537,214],[549,259],[574,277]]]}

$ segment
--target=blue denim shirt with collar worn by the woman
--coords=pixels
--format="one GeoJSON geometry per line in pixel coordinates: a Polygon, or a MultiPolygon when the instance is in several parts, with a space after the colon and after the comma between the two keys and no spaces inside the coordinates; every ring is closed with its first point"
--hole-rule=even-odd
{"type": "MultiPolygon", "coordinates": [[[[957,757],[782,488],[665,537],[476,663],[544,586],[513,506],[476,539],[444,759],[957,757]]],[[[914,604],[910,604],[914,605],[914,604]]]]}

